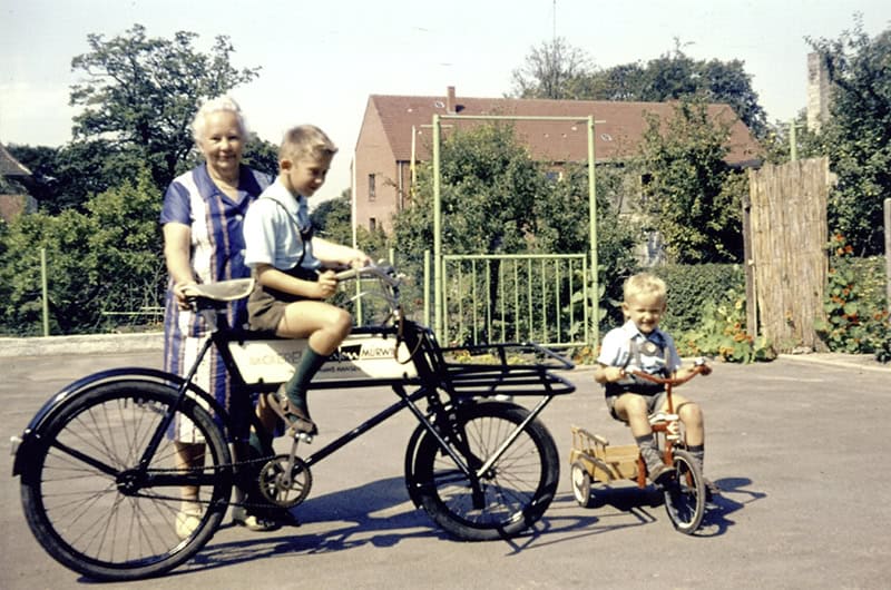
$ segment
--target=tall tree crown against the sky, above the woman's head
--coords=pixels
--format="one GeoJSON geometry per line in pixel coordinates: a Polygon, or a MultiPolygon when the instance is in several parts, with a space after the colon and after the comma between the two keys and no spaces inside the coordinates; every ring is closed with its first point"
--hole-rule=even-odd
{"type": "Polygon", "coordinates": [[[110,40],[88,35],[90,51],[71,60],[86,76],[71,87],[70,104],[84,107],[75,140],[104,140],[111,151],[136,154],[156,186],[166,186],[194,147],[189,124],[200,101],[253,80],[260,69],[229,65],[228,37],[216,37],[209,53],[195,50],[197,37],[148,38],[141,24],[110,40]]]}

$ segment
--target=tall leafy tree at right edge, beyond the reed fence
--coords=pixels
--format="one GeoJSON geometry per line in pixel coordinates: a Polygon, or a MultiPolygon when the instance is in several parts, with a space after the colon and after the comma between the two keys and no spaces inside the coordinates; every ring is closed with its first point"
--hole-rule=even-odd
{"type": "Polygon", "coordinates": [[[860,255],[883,250],[882,199],[891,195],[891,30],[874,39],[855,17],[838,39],[807,39],[832,83],[823,131],[838,184],[829,197],[832,232],[860,255]]]}

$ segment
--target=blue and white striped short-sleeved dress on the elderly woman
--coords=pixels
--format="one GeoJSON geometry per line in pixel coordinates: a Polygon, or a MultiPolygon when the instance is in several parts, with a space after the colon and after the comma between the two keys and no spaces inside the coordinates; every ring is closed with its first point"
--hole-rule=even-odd
{"type": "MultiPolygon", "coordinates": [[[[160,224],[189,226],[190,263],[198,283],[251,276],[251,269],[244,264],[244,215],[272,180],[263,173],[242,166],[236,200],[217,188],[204,164],[170,183],[164,195],[160,224]]],[[[200,316],[190,309],[179,308],[169,288],[172,285],[168,285],[165,303],[164,370],[184,375],[208,331],[200,316]]],[[[243,325],[247,321],[246,299],[229,303],[227,316],[229,325],[243,325]]],[[[214,350],[205,356],[194,382],[223,407],[232,407],[231,380],[222,357],[214,350]]],[[[178,424],[177,431],[176,440],[180,442],[200,442],[200,435],[187,421],[178,424]]]]}

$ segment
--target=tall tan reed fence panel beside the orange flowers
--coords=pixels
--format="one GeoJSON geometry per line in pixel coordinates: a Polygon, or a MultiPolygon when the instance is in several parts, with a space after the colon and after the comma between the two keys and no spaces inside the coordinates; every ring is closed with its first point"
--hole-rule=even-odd
{"type": "Polygon", "coordinates": [[[750,170],[750,291],[757,302],[761,333],[780,352],[796,346],[825,350],[814,319],[825,317],[829,187],[828,158],[750,170]]]}

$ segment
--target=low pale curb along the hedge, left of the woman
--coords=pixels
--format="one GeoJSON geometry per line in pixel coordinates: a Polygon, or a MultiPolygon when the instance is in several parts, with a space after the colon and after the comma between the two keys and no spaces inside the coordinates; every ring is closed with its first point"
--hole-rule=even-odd
{"type": "Polygon", "coordinates": [[[0,338],[0,357],[61,354],[120,354],[164,348],[164,333],[85,334],[37,338],[0,338]]]}

